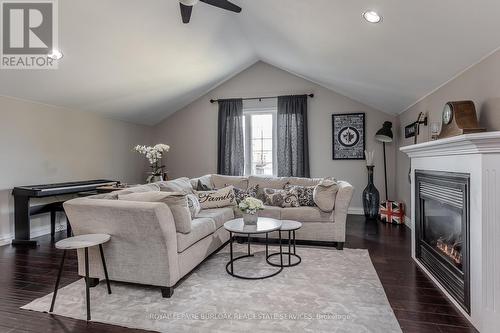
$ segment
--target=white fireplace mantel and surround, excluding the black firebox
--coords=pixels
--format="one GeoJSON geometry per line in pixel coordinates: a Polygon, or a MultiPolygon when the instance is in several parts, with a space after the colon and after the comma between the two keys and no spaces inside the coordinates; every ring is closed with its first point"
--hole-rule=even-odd
{"type": "Polygon", "coordinates": [[[500,327],[500,131],[465,134],[401,147],[411,158],[411,219],[415,225],[415,170],[446,171],[470,175],[470,287],[471,313],[467,314],[451,295],[412,257],[453,304],[482,333],[500,327]]]}

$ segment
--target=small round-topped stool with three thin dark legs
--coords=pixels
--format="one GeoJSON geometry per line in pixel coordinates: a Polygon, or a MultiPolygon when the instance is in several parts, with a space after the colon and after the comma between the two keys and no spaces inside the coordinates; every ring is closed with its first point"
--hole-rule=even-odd
{"type": "Polygon", "coordinates": [[[52,303],[50,304],[49,312],[54,310],[54,303],[56,302],[57,289],[59,288],[59,281],[61,280],[61,273],[64,266],[64,258],[66,257],[66,250],[77,250],[85,249],[85,292],[86,292],[86,303],[87,303],[87,321],[90,320],[90,278],[89,278],[89,247],[99,245],[99,252],[101,252],[102,267],[104,268],[104,276],[106,278],[106,284],[108,287],[108,294],[111,294],[111,287],[109,286],[108,270],[106,268],[106,261],[104,260],[104,252],[102,250],[102,244],[109,241],[111,238],[107,234],[88,234],[80,235],[75,237],[70,237],[63,239],[56,243],[56,248],[64,250],[63,257],[61,260],[61,266],[59,266],[59,273],[57,274],[56,286],[54,288],[54,295],[52,296],[52,303]]]}

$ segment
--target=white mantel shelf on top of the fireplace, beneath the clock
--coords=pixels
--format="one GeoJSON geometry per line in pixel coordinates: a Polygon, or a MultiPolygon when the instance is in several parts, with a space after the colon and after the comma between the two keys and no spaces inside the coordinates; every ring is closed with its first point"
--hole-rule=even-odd
{"type": "Polygon", "coordinates": [[[468,154],[500,154],[500,131],[463,134],[399,148],[410,158],[468,154]]]}

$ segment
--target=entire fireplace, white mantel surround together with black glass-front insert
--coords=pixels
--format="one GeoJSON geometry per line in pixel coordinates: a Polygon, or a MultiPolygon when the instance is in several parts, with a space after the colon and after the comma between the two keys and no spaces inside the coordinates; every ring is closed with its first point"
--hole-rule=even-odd
{"type": "Polygon", "coordinates": [[[482,333],[500,327],[500,132],[401,147],[412,257],[482,333]]]}

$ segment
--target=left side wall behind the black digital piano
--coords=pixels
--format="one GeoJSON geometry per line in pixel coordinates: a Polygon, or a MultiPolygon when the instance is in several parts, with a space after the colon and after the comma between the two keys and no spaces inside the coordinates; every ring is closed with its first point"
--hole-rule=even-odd
{"type": "MultiPolygon", "coordinates": [[[[98,178],[143,182],[144,160],[132,152],[150,129],[95,114],[0,97],[0,245],[14,234],[12,188],[98,178]]],[[[33,218],[35,235],[48,216],[33,218]]]]}

